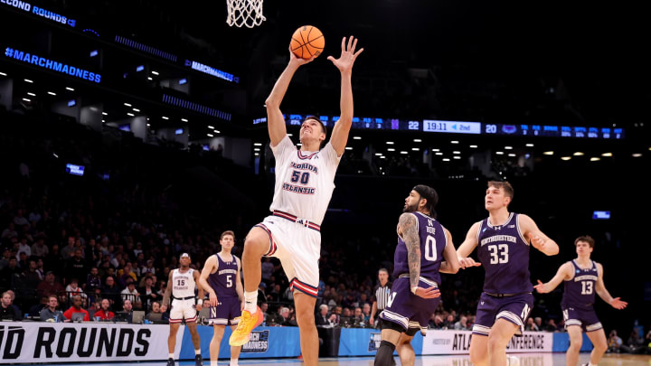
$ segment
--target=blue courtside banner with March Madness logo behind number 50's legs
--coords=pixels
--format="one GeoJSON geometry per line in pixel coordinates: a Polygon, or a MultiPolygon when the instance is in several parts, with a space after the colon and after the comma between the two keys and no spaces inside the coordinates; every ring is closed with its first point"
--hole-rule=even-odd
{"type": "MultiPolygon", "coordinates": [[[[199,338],[201,338],[203,359],[209,360],[210,343],[213,333],[212,326],[198,325],[197,332],[199,333],[199,338]]],[[[231,328],[227,326],[222,337],[222,343],[220,344],[219,358],[221,359],[231,357],[231,346],[228,343],[231,333],[231,328]]],[[[240,358],[298,357],[300,354],[300,336],[296,326],[259,326],[251,333],[249,343],[242,346],[240,358]]],[[[185,327],[179,360],[193,359],[194,346],[192,343],[192,334],[185,327]]]]}

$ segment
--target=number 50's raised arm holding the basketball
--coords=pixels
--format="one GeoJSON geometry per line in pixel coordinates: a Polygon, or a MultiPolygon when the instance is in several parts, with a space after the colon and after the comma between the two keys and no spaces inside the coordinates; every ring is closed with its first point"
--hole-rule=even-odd
{"type": "Polygon", "coordinates": [[[280,103],[285,98],[285,93],[289,87],[289,81],[294,76],[294,72],[301,66],[314,60],[314,57],[305,60],[297,58],[294,52],[289,50],[289,63],[285,70],[280,74],[274,88],[271,89],[271,94],[265,100],[265,107],[267,107],[267,128],[269,129],[269,139],[271,146],[276,146],[287,135],[287,127],[285,127],[285,118],[282,117],[280,111],[280,103]]]}

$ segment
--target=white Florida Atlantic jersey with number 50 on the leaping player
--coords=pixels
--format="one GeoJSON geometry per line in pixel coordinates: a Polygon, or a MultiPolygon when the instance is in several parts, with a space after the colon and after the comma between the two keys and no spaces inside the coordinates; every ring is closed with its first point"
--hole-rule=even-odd
{"type": "Polygon", "coordinates": [[[321,225],[341,156],[329,142],[320,151],[297,150],[287,135],[271,150],[276,158],[276,186],[269,209],[321,225]]]}

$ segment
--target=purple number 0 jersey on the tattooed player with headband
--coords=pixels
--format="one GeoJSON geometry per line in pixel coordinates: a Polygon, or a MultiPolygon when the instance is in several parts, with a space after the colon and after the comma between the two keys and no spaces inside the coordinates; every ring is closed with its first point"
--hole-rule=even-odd
{"type": "MultiPolygon", "coordinates": [[[[440,284],[439,267],[443,261],[443,250],[448,242],[443,225],[420,212],[411,212],[418,220],[420,239],[420,277],[429,278],[440,284]]],[[[393,255],[393,277],[409,273],[407,245],[398,237],[398,246],[393,255]]]]}

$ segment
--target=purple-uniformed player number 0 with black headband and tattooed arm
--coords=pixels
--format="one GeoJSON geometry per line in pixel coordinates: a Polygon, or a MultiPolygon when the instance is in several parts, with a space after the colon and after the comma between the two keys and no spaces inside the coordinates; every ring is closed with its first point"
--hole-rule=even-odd
{"type": "Polygon", "coordinates": [[[439,306],[439,272],[458,271],[452,236],[434,219],[437,202],[437,192],[421,184],[405,199],[393,257],[395,280],[387,307],[380,314],[382,342],[375,355],[376,366],[392,365],[396,348],[402,365],[414,364],[411,339],[418,331],[425,333],[431,314],[439,306]]]}

